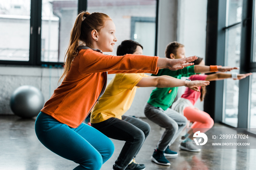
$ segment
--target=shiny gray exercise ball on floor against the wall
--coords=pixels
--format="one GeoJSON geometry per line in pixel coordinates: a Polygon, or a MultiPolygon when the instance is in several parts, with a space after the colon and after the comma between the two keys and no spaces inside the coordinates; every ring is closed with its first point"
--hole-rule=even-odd
{"type": "Polygon", "coordinates": [[[44,107],[44,96],[33,86],[20,86],[12,93],[10,106],[15,115],[31,118],[44,107]]]}

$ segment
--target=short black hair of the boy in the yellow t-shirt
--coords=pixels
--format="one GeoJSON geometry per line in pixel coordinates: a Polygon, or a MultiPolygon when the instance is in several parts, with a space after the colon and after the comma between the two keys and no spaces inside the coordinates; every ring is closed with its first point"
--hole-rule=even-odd
{"type": "Polygon", "coordinates": [[[142,45],[136,41],[131,39],[124,40],[117,47],[116,55],[133,54],[136,51],[137,46],[140,46],[143,49],[142,45]]]}

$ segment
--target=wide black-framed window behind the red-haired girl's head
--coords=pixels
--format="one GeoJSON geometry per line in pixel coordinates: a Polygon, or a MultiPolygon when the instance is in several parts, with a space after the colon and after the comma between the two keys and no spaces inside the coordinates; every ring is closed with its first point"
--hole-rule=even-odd
{"type": "Polygon", "coordinates": [[[86,9],[91,13],[106,13],[116,24],[118,42],[111,54],[116,54],[123,40],[131,39],[133,29],[138,37],[146,35],[150,39],[140,39],[139,43],[145,54],[154,55],[156,5],[157,0],[3,0],[0,2],[0,37],[5,41],[0,42],[0,64],[63,63],[76,16],[86,9]],[[150,21],[136,22],[132,27],[133,17],[150,21]]]}

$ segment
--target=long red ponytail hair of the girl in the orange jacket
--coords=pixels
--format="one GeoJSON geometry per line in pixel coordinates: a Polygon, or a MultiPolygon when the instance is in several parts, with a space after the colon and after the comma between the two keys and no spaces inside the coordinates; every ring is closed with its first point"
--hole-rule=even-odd
{"type": "Polygon", "coordinates": [[[64,58],[64,72],[61,75],[59,82],[67,75],[73,59],[78,55],[79,41],[84,42],[87,47],[92,48],[90,39],[91,31],[96,30],[97,32],[100,32],[101,28],[104,27],[106,20],[111,20],[111,18],[105,13],[89,13],[87,11],[82,11],[78,14],[74,27],[71,30],[69,45],[64,58]]]}

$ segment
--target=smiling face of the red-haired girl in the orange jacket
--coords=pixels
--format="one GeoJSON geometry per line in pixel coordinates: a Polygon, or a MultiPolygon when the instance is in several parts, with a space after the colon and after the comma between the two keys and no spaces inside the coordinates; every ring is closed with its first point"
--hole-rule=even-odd
{"type": "Polygon", "coordinates": [[[105,26],[97,36],[97,48],[102,52],[112,52],[117,38],[116,26],[112,20],[106,20],[105,26]]]}

